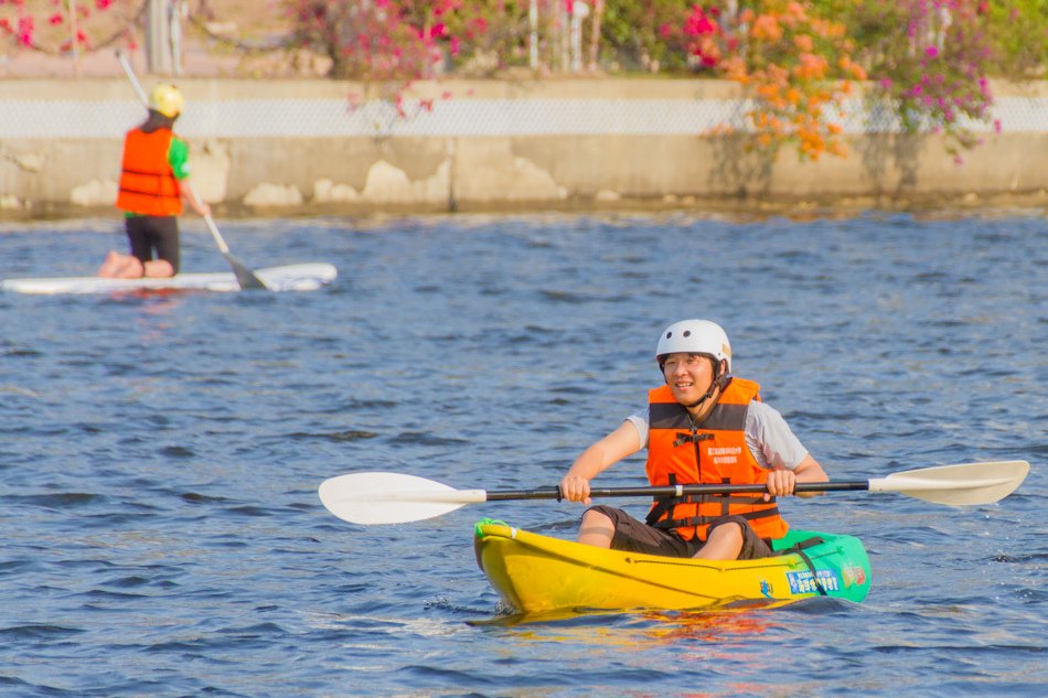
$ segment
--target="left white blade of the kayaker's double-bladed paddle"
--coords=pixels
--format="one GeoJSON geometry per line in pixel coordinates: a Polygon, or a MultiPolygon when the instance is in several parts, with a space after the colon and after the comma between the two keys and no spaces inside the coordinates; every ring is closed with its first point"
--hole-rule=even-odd
{"type": "Polygon", "coordinates": [[[328,511],[351,524],[406,524],[488,501],[483,490],[455,490],[403,473],[350,473],[320,484],[328,511]]]}

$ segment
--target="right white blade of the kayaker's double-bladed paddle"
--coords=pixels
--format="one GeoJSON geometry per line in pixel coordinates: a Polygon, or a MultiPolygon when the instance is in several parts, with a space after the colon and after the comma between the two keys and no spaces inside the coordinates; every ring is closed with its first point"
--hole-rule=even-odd
{"type": "Polygon", "coordinates": [[[900,492],[935,504],[992,504],[1023,484],[1026,461],[940,465],[892,473],[869,481],[870,492],[900,492]]]}

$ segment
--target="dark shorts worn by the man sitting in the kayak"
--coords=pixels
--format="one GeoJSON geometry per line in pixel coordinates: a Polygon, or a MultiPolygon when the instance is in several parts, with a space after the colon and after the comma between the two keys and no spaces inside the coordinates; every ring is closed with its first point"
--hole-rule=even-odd
{"type": "MultiPolygon", "coordinates": [[[[590,508],[600,512],[614,524],[614,537],[611,539],[611,547],[616,550],[689,558],[695,557],[695,554],[703,548],[704,543],[697,538],[684,540],[676,531],[649,526],[613,506],[593,506],[590,508]]],[[[741,516],[721,516],[709,524],[709,531],[725,524],[738,524],[742,528],[742,550],[737,559],[756,560],[774,555],[768,541],[758,536],[753,527],[741,516]]]]}

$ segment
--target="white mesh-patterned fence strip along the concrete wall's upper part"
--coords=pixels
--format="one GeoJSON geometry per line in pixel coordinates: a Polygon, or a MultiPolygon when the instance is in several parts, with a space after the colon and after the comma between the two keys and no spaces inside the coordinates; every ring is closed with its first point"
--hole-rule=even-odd
{"type": "MultiPolygon", "coordinates": [[[[846,103],[833,117],[847,133],[899,132],[896,115],[846,103]]],[[[751,105],[731,99],[480,99],[430,103],[406,99],[352,108],[344,99],[194,100],[179,120],[186,138],[267,137],[489,137],[489,136],[701,136],[747,130],[751,105]]],[[[0,100],[0,139],[122,138],[142,119],[133,100],[0,100]]],[[[1048,131],[1048,98],[1001,97],[990,122],[962,122],[973,132],[1048,131]]]]}

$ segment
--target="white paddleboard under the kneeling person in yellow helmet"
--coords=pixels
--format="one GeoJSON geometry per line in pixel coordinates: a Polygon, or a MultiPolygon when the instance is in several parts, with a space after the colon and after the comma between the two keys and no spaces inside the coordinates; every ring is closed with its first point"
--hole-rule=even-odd
{"type": "MultiPolygon", "coordinates": [[[[314,291],[339,276],[328,264],[286,265],[254,269],[270,291],[314,291]]],[[[164,279],[104,279],[101,277],[55,277],[52,279],[4,279],[0,290],[15,293],[113,293],[140,290],[238,291],[232,271],[180,273],[164,279]]]]}

